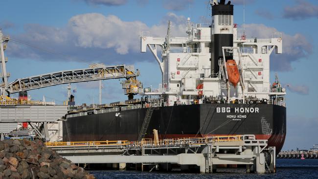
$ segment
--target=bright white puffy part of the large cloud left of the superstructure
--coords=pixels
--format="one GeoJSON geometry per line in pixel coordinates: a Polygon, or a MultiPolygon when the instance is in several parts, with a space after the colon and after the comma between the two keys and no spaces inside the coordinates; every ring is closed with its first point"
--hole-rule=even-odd
{"type": "MultiPolygon", "coordinates": [[[[174,32],[184,31],[185,18],[168,13],[165,19],[176,22],[174,32]],[[182,24],[182,22],[184,22],[182,24]]],[[[118,54],[127,54],[129,50],[139,50],[138,36],[142,30],[152,35],[164,36],[167,24],[160,23],[148,27],[140,21],[125,22],[117,16],[104,16],[97,13],[74,16],[69,20],[69,28],[76,37],[76,45],[81,47],[114,48],[118,54]]],[[[185,34],[185,33],[184,33],[185,34]]]]}

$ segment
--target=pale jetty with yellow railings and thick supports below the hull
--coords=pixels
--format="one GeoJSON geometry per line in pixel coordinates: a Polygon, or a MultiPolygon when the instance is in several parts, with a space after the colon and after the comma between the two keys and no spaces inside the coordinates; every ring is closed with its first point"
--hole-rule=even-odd
{"type": "Polygon", "coordinates": [[[78,164],[112,163],[125,168],[181,168],[197,166],[200,173],[215,173],[218,165],[246,165],[247,172],[275,172],[275,147],[255,135],[228,135],[141,141],[46,142],[46,147],[78,164]]]}

